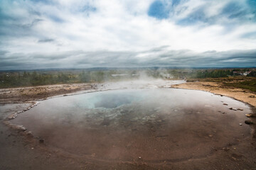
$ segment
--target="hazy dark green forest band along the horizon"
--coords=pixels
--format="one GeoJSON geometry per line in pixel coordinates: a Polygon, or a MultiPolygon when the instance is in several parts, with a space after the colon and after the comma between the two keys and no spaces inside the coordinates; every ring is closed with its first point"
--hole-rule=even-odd
{"type": "Polygon", "coordinates": [[[58,70],[0,72],[0,88],[48,84],[100,83],[132,79],[204,79],[256,77],[256,69],[145,69],[145,70],[58,70]]]}

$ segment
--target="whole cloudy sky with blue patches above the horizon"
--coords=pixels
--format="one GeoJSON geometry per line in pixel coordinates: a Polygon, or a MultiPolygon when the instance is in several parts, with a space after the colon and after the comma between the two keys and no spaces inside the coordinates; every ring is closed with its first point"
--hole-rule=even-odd
{"type": "Polygon", "coordinates": [[[1,0],[0,69],[256,67],[256,0],[1,0]]]}

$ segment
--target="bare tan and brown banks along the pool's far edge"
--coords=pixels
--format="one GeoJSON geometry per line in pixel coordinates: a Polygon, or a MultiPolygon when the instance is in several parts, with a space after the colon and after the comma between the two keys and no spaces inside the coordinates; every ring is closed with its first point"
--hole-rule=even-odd
{"type": "MultiPolygon", "coordinates": [[[[117,84],[119,82],[116,82],[117,84]]],[[[65,96],[70,94],[80,94],[82,91],[99,91],[106,89],[125,89],[127,87],[122,86],[118,88],[108,87],[115,83],[102,83],[102,84],[55,84],[45,86],[28,86],[9,89],[0,89],[0,103],[27,103],[33,101],[41,101],[50,97],[65,96]]],[[[164,87],[162,84],[158,87],[164,87]]],[[[256,94],[247,89],[233,88],[231,86],[224,86],[220,82],[213,81],[195,81],[186,82],[183,81],[178,84],[171,84],[167,86],[174,89],[191,89],[208,91],[213,94],[228,96],[238,101],[250,104],[256,108],[256,94]]],[[[128,87],[129,88],[129,87],[128,87]]],[[[142,88],[142,87],[139,87],[142,88]]]]}

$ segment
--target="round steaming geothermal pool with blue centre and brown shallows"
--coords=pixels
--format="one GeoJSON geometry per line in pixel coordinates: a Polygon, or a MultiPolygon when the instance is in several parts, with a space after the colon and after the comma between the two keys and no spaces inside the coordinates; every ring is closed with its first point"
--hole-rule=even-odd
{"type": "Polygon", "coordinates": [[[250,112],[245,103],[204,91],[124,89],[50,98],[11,123],[81,157],[176,162],[250,136],[250,112]]]}

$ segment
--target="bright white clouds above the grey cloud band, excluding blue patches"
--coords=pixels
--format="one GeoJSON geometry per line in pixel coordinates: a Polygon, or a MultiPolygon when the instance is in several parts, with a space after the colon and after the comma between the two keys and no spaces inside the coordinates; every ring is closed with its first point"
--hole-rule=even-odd
{"type": "MultiPolygon", "coordinates": [[[[147,15],[152,2],[153,0],[56,0],[52,3],[38,3],[6,0],[2,2],[7,6],[4,11],[6,16],[16,18],[18,23],[5,20],[4,27],[13,29],[20,36],[6,32],[1,37],[0,50],[26,55],[79,50],[141,52],[163,45],[168,45],[169,50],[194,52],[256,49],[255,39],[241,38],[241,35],[256,30],[255,22],[230,26],[232,29],[223,24],[228,20],[224,17],[211,24],[177,24],[178,20],[188,17],[198,8],[205,9],[205,17],[218,16],[228,0],[186,1],[175,9],[172,8],[174,16],[164,20],[147,15]],[[96,10],[82,11],[83,6],[92,6],[96,10]],[[40,21],[33,23],[35,20],[40,21]],[[22,28],[23,25],[28,25],[28,28],[22,28]],[[51,41],[38,43],[38,40],[44,39],[51,41]]],[[[146,56],[151,55],[137,55],[144,59],[146,56]]]]}

